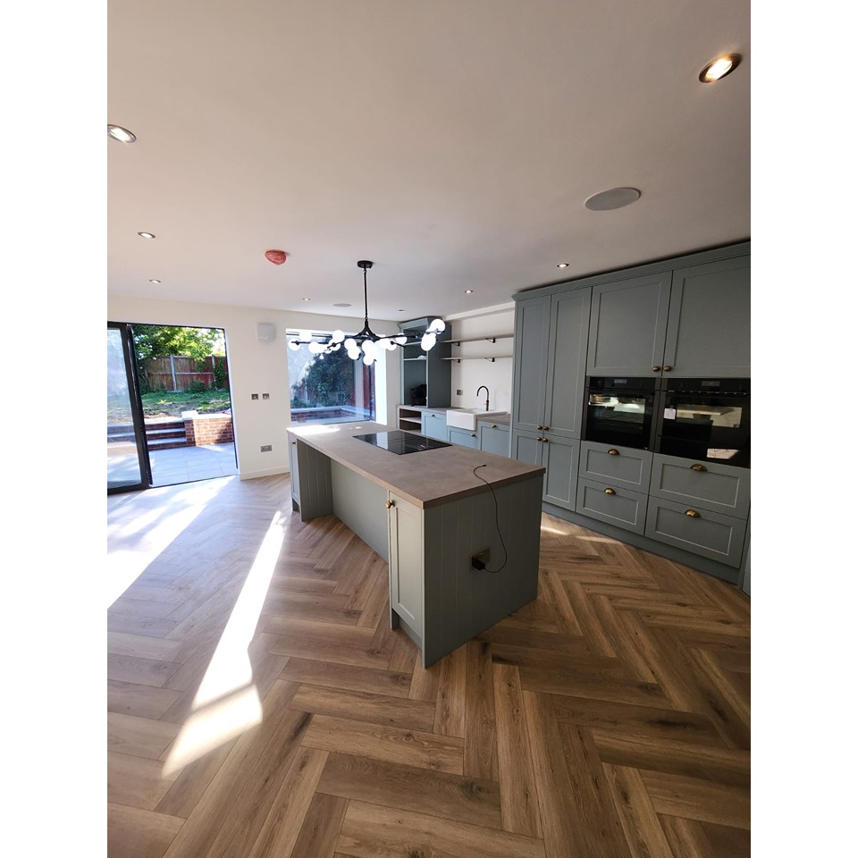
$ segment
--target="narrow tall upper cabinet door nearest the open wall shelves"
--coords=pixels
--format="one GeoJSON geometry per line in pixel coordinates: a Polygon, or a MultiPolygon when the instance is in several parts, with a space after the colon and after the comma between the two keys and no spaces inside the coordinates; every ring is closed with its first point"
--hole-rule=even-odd
{"type": "Polygon", "coordinates": [[[551,296],[517,303],[512,422],[526,432],[542,432],[550,333],[551,296]]]}

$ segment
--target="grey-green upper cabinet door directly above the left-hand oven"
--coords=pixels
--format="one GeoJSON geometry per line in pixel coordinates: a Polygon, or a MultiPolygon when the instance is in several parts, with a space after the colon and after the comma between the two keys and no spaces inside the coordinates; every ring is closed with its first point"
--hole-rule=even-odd
{"type": "Polygon", "coordinates": [[[588,375],[661,374],[669,271],[593,286],[588,375]]]}

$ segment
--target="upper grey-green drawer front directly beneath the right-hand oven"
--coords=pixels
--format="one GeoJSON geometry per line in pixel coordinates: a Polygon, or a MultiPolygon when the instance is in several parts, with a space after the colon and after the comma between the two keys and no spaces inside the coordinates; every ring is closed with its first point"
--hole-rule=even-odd
{"type": "Polygon", "coordinates": [[[747,518],[751,509],[751,471],[656,453],[652,458],[650,494],[665,501],[747,518]],[[697,469],[701,466],[705,470],[697,469]]]}

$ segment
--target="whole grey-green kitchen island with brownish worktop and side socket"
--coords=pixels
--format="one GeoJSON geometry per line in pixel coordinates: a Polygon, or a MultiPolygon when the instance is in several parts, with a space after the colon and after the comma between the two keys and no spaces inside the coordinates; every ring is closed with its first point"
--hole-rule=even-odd
{"type": "Polygon", "coordinates": [[[376,423],[291,427],[292,508],[387,560],[391,627],[428,667],[536,598],[544,468],[415,433],[398,454],[377,446],[389,433],[401,442],[376,423]]]}

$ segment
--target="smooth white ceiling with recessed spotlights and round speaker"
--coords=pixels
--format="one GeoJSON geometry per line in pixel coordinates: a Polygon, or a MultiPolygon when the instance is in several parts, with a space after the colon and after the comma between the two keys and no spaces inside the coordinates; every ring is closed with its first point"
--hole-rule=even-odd
{"type": "Polygon", "coordinates": [[[107,143],[112,292],[362,316],[370,259],[371,316],[454,315],[750,237],[750,0],[107,14],[107,122],[138,137],[107,143]],[[585,208],[618,186],[642,196],[585,208]]]}

